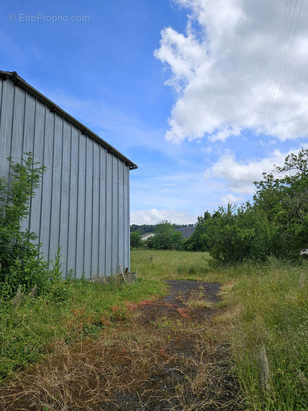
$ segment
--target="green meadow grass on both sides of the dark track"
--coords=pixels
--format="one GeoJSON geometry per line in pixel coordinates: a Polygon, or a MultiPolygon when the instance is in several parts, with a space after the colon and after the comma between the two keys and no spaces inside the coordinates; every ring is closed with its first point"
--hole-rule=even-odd
{"type": "MultiPolygon", "coordinates": [[[[135,353],[144,346],[138,364],[149,352],[164,356],[160,347],[156,351],[151,348],[156,340],[155,333],[157,341],[161,339],[163,345],[163,341],[170,339],[172,327],[181,335],[180,326],[171,327],[172,321],[166,318],[163,325],[158,323],[152,329],[133,328],[130,310],[138,308],[138,304],[147,304],[147,299],[155,300],[164,295],[167,292],[164,280],[183,279],[222,285],[218,311],[207,328],[200,328],[198,339],[215,340],[218,346],[229,347],[230,366],[240,387],[239,409],[307,410],[307,262],[292,265],[270,258],[266,264],[215,268],[208,261],[208,253],[202,252],[132,250],[131,272],[138,273],[138,281],[133,285],[67,281],[57,289],[57,295],[22,295],[18,304],[12,300],[1,302],[0,388],[11,383],[16,388],[15,381],[28,387],[33,380],[31,369],[37,367],[35,372],[40,376],[43,366],[50,386],[50,375],[56,375],[52,358],[58,356],[61,364],[69,359],[71,369],[75,370],[74,356],[78,353],[89,356],[79,348],[74,349],[80,343],[87,347],[87,352],[96,347],[95,356],[91,354],[93,361],[99,361],[100,350],[108,348],[111,354],[112,347],[117,344],[120,356],[132,344],[135,353]],[[118,324],[122,324],[122,328],[118,324]],[[122,333],[120,337],[118,329],[122,333]],[[130,342],[124,347],[128,337],[130,342]],[[28,377],[23,382],[24,370],[28,377]]],[[[195,328],[190,328],[189,332],[195,332],[195,328]]],[[[83,361],[84,366],[89,365],[89,357],[83,361]]],[[[91,372],[95,371],[93,364],[91,372]]],[[[63,373],[61,375],[63,377],[63,373]]],[[[88,371],[85,371],[82,378],[87,376],[88,371]]],[[[69,392],[70,380],[67,375],[63,378],[69,392]]],[[[80,378],[76,374],[74,384],[81,383],[80,378]]],[[[41,384],[40,378],[37,381],[41,384]]],[[[99,387],[97,389],[95,392],[101,392],[99,387]]],[[[40,392],[42,388],[36,388],[35,396],[40,392]]],[[[65,409],[61,408],[64,405],[49,407],[50,403],[59,402],[59,398],[63,404],[69,403],[69,397],[63,399],[59,393],[58,397],[52,394],[53,402],[48,397],[45,410],[65,409]]],[[[190,406],[183,409],[192,409],[190,406]]]]}

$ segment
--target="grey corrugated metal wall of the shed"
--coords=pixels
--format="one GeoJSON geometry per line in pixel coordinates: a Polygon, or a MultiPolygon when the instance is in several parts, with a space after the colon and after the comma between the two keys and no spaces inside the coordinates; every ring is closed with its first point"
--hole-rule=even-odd
{"type": "Polygon", "coordinates": [[[47,166],[23,228],[76,277],[129,268],[129,166],[10,80],[0,80],[0,175],[31,152],[47,166]]]}

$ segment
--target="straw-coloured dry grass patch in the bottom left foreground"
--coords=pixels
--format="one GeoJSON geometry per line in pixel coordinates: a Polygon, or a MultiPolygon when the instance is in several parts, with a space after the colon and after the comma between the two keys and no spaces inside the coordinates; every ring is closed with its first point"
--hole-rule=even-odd
{"type": "Polygon", "coordinates": [[[58,342],[52,355],[1,388],[1,409],[92,409],[110,401],[112,393],[125,393],[161,364],[160,341],[149,349],[146,340],[113,331],[72,347],[58,342]]]}

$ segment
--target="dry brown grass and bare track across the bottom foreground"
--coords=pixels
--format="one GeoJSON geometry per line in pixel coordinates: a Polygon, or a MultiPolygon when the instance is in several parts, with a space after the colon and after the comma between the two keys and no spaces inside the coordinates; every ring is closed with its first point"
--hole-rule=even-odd
{"type": "Polygon", "coordinates": [[[58,342],[41,363],[0,389],[0,409],[125,409],[121,399],[132,395],[132,410],[145,403],[174,411],[233,408],[236,388],[227,349],[213,337],[219,332],[215,324],[196,327],[185,318],[162,329],[141,319],[134,312],[131,324],[104,331],[95,341],[58,342]]]}

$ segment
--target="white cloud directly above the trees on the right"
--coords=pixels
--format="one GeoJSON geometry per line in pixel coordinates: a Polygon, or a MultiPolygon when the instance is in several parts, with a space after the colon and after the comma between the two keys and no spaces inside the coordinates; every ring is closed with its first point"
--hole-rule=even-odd
{"type": "MultiPolygon", "coordinates": [[[[308,144],[303,144],[302,146],[307,148],[308,144]]],[[[222,178],[227,181],[228,189],[234,193],[252,194],[255,191],[255,186],[252,181],[260,181],[263,172],[273,172],[275,169],[274,164],[282,166],[285,157],[291,153],[298,153],[300,148],[292,149],[286,153],[275,150],[271,156],[264,158],[259,162],[237,161],[234,153],[226,151],[225,154],[211,166],[211,169],[206,171],[204,177],[222,178]]],[[[273,174],[275,175],[275,172],[273,174]]],[[[229,198],[232,199],[233,195],[229,194],[229,196],[229,198]]],[[[228,196],[222,197],[222,199],[227,198],[228,196]]],[[[238,201],[238,199],[234,197],[234,200],[232,201],[238,201]]]]}

